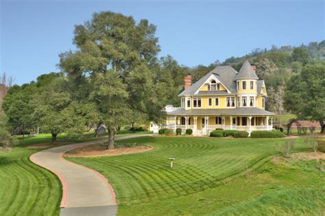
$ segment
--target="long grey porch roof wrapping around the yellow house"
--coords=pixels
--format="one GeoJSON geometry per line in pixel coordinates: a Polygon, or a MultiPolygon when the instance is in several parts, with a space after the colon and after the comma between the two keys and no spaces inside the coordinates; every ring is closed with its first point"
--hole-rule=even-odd
{"type": "Polygon", "coordinates": [[[256,107],[239,107],[234,109],[176,109],[167,112],[169,116],[274,116],[275,113],[256,107]]]}

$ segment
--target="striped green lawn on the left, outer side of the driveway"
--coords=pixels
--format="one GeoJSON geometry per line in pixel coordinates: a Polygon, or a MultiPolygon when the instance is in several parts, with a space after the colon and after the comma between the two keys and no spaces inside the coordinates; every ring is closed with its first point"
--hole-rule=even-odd
{"type": "MultiPolygon", "coordinates": [[[[130,133],[123,131],[117,137],[125,135],[130,133]]],[[[80,142],[105,138],[95,138],[88,133],[82,139],[67,139],[62,134],[58,136],[58,141],[80,142]]],[[[40,134],[25,137],[24,140],[18,136],[18,139],[19,144],[12,150],[0,150],[0,215],[59,215],[62,198],[60,181],[56,175],[29,161],[29,156],[39,150],[26,148],[31,144],[48,143],[51,135],[40,134]]]]}

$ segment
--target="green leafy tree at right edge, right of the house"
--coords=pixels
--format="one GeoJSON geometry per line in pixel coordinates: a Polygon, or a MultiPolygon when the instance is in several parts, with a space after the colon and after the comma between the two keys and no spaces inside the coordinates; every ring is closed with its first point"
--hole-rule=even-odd
{"type": "Polygon", "coordinates": [[[305,66],[300,75],[291,77],[285,89],[285,109],[300,118],[317,120],[324,133],[325,66],[305,66]]]}

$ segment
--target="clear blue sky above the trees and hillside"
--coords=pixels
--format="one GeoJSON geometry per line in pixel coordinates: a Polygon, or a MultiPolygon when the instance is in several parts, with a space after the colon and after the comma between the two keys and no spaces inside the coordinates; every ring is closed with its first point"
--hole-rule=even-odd
{"type": "Polygon", "coordinates": [[[0,73],[22,84],[58,71],[75,24],[111,10],[157,26],[160,56],[208,65],[272,44],[324,40],[324,1],[1,1],[0,73]]]}

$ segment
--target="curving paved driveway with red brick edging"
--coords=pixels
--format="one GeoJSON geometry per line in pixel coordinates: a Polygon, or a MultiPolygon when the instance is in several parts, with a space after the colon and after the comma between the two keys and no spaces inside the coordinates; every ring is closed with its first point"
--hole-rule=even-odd
{"type": "MultiPolygon", "coordinates": [[[[143,136],[148,135],[130,135],[117,137],[115,140],[143,136]]],[[[99,144],[103,141],[107,139],[50,148],[30,157],[33,163],[45,167],[60,178],[63,191],[60,215],[116,215],[115,192],[108,180],[95,170],[77,165],[62,157],[64,152],[74,148],[99,144]]]]}

